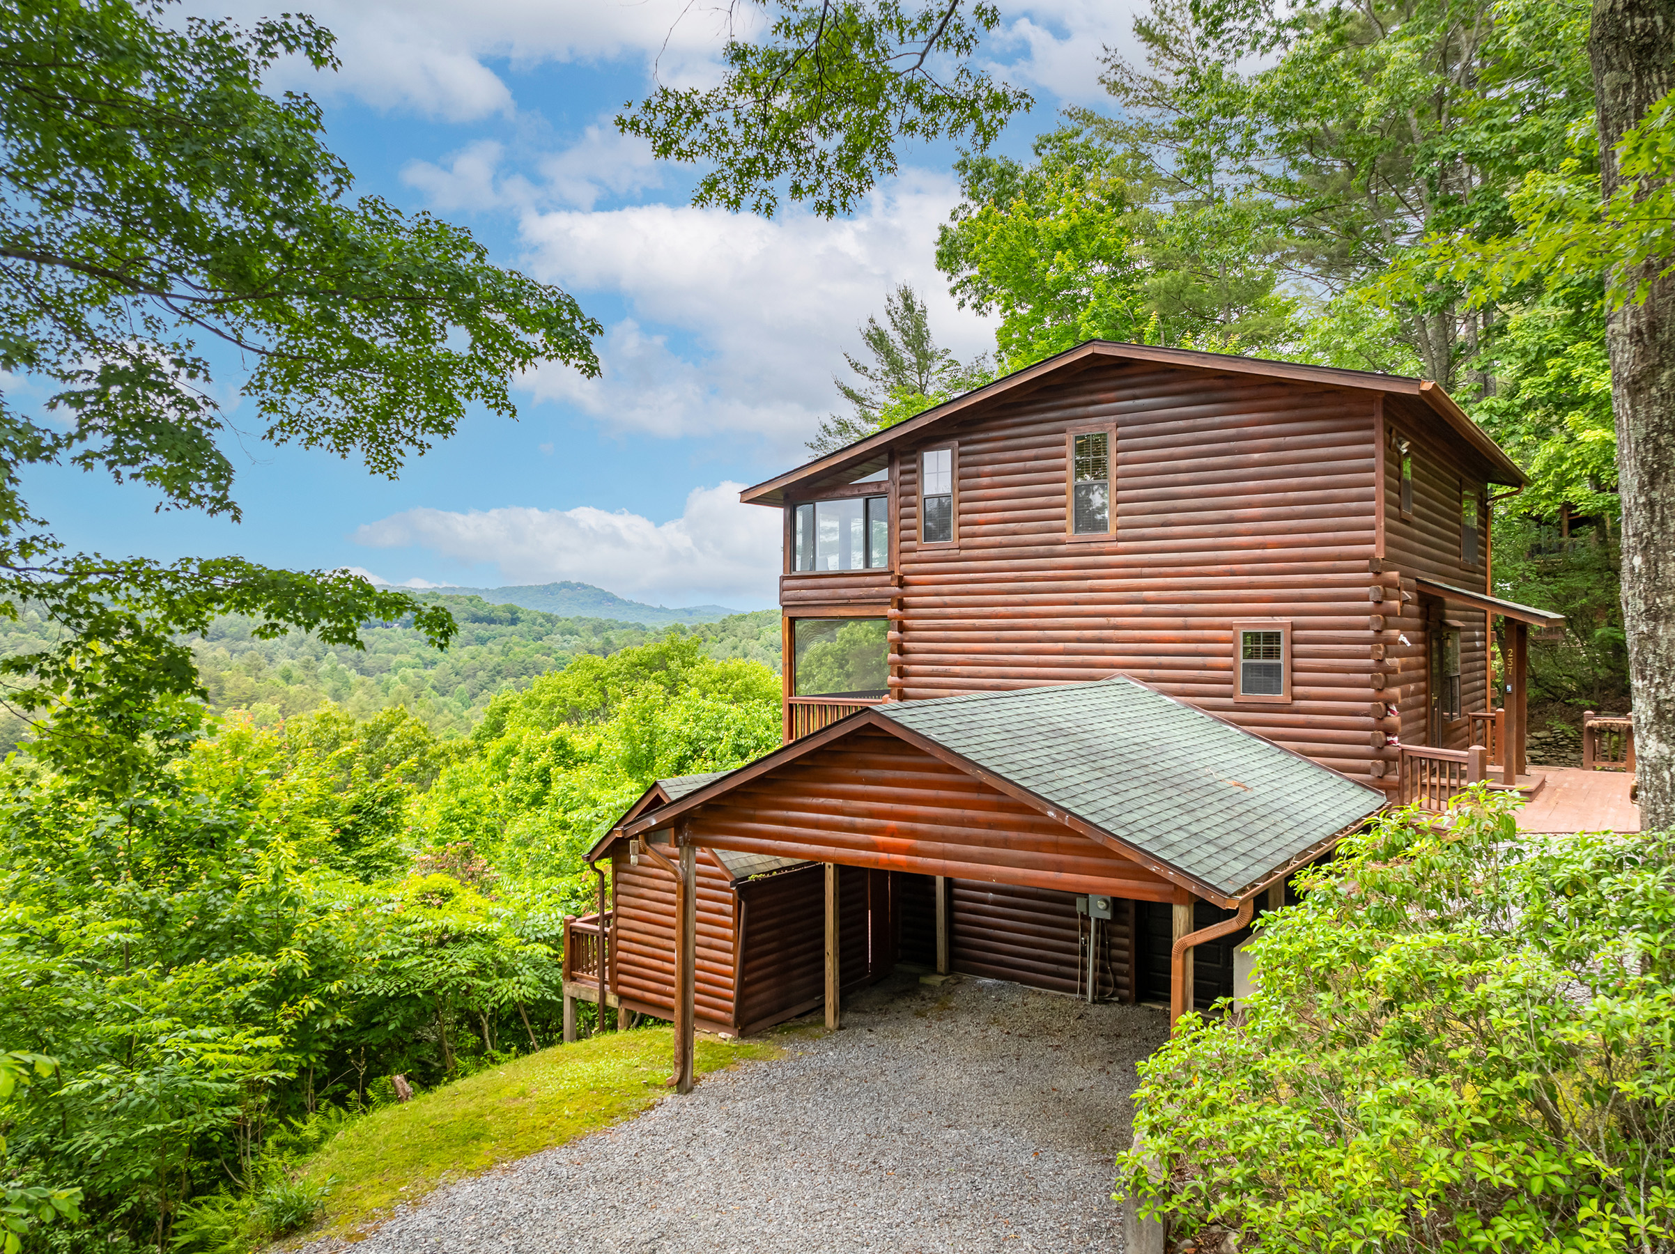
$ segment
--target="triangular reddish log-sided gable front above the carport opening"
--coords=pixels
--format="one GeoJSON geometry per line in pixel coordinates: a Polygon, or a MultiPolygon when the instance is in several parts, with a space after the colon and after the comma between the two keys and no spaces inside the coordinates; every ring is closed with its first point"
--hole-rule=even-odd
{"type": "Polygon", "coordinates": [[[883,732],[806,753],[698,807],[690,820],[698,844],[742,854],[1146,901],[1174,896],[1156,872],[883,732]]]}

